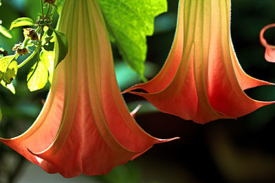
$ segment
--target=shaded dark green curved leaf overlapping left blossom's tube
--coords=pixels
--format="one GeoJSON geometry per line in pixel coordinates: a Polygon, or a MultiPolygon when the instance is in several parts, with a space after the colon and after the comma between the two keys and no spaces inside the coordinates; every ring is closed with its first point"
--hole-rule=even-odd
{"type": "Polygon", "coordinates": [[[59,32],[58,30],[53,29],[52,27],[50,27],[50,28],[56,35],[56,40],[57,40],[57,44],[58,44],[58,58],[57,58],[57,62],[56,62],[56,66],[58,66],[58,64],[65,58],[65,56],[68,53],[67,37],[64,33],[59,32]]]}

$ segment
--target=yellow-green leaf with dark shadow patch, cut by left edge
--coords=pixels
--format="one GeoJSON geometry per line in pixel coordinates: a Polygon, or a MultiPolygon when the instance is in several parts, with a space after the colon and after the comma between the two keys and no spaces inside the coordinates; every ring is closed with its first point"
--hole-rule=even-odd
{"type": "Polygon", "coordinates": [[[12,60],[14,56],[5,56],[0,59],[0,80],[5,84],[12,83],[17,76],[17,61],[12,60]]]}

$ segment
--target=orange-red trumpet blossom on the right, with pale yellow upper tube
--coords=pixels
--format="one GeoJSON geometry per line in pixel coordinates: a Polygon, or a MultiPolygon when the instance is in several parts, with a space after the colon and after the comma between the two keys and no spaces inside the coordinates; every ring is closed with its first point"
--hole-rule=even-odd
{"type": "Polygon", "coordinates": [[[274,102],[243,90],[271,84],[244,73],[230,38],[230,0],[179,0],[177,32],[164,67],[153,80],[124,91],[162,112],[197,123],[236,118],[274,102]],[[143,89],[146,93],[133,91],[143,89]]]}

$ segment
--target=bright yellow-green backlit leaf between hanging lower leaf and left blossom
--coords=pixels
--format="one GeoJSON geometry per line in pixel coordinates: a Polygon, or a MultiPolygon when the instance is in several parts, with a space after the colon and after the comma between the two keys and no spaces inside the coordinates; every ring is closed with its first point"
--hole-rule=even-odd
{"type": "Polygon", "coordinates": [[[49,72],[49,82],[52,84],[52,75],[54,74],[54,51],[47,51],[42,48],[40,53],[40,60],[47,67],[49,72]]]}

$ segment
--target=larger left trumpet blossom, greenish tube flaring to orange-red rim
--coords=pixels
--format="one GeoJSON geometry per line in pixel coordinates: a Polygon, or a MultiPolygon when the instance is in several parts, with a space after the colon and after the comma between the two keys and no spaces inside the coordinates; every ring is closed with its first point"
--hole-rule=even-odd
{"type": "MultiPolygon", "coordinates": [[[[0,141],[48,173],[100,175],[168,140],[144,132],[126,108],[97,0],[66,0],[58,30],[69,52],[30,129],[0,141]]],[[[56,53],[57,55],[57,53],[56,53]]]]}

